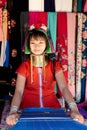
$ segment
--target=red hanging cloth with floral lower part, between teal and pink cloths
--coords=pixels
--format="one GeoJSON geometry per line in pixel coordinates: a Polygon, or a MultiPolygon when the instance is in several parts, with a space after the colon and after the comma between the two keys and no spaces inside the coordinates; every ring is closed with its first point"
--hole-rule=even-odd
{"type": "Polygon", "coordinates": [[[67,13],[57,13],[57,51],[64,75],[68,81],[67,13]]]}

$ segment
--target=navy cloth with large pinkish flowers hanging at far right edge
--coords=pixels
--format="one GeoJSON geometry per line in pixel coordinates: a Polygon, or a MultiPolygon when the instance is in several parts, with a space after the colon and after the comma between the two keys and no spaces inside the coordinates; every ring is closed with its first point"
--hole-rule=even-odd
{"type": "Polygon", "coordinates": [[[81,66],[81,102],[85,101],[87,76],[87,13],[83,14],[82,28],[82,66],[81,66]]]}

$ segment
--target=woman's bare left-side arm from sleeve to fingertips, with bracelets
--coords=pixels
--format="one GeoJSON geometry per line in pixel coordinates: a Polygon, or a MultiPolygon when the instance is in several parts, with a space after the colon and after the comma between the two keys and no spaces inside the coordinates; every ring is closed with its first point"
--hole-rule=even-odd
{"type": "Polygon", "coordinates": [[[17,111],[20,107],[24,87],[25,87],[26,78],[20,74],[17,75],[17,81],[16,81],[16,89],[15,93],[12,99],[11,108],[8,117],[6,118],[6,123],[8,125],[14,125],[16,124],[17,119],[19,118],[19,115],[17,114],[17,111]]]}

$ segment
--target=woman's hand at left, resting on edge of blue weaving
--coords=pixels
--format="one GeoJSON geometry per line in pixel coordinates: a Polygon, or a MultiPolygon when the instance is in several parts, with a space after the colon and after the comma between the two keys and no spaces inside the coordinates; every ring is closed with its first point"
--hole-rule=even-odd
{"type": "Polygon", "coordinates": [[[20,117],[20,114],[18,113],[9,114],[6,118],[6,123],[10,126],[13,126],[17,123],[19,117],[20,117]]]}

